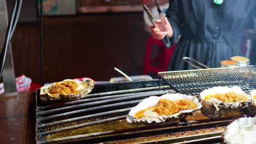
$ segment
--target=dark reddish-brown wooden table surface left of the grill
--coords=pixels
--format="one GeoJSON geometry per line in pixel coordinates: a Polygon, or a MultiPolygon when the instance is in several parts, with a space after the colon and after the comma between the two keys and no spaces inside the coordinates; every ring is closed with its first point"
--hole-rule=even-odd
{"type": "Polygon", "coordinates": [[[36,93],[0,95],[0,143],[35,143],[36,93]]]}

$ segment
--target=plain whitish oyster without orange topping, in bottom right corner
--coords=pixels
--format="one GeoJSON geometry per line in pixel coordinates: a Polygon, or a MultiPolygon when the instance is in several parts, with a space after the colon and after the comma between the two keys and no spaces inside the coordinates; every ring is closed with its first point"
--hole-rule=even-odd
{"type": "Polygon", "coordinates": [[[223,143],[256,143],[256,117],[238,118],[222,134],[223,143]]]}

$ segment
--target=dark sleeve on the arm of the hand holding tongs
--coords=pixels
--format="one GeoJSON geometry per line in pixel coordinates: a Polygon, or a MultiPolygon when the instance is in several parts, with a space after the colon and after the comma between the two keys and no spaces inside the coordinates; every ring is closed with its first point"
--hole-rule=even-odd
{"type": "Polygon", "coordinates": [[[169,1],[169,8],[166,11],[166,17],[170,22],[172,29],[173,29],[173,37],[171,38],[171,44],[174,45],[177,43],[180,33],[181,27],[181,12],[180,8],[178,7],[179,0],[170,0],[169,1]]]}

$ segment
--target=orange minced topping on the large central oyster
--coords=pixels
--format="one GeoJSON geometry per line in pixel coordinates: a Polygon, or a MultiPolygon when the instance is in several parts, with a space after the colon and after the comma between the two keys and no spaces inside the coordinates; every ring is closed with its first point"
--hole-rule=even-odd
{"type": "Polygon", "coordinates": [[[190,100],[179,99],[171,101],[167,99],[160,99],[156,106],[148,107],[147,109],[138,111],[135,114],[135,117],[144,117],[143,113],[150,110],[153,110],[153,112],[158,113],[158,116],[168,116],[182,110],[196,109],[196,107],[197,105],[190,100]]]}

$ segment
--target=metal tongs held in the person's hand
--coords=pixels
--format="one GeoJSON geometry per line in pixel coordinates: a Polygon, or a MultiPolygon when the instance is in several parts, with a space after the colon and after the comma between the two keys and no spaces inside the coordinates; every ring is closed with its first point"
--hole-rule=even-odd
{"type": "MultiPolygon", "coordinates": [[[[165,26],[165,22],[164,22],[164,15],[162,14],[162,10],[160,9],[159,1],[154,0],[154,4],[156,6],[156,9],[158,9],[159,17],[160,17],[161,22],[162,22],[162,27],[164,27],[164,31],[167,31],[166,26],[165,26]]],[[[148,9],[148,7],[145,4],[143,4],[143,9],[148,14],[149,20],[152,23],[152,25],[155,28],[158,28],[158,26],[155,24],[154,16],[152,15],[152,13],[150,12],[150,10],[148,9]]],[[[163,41],[163,43],[165,44],[165,46],[167,48],[171,47],[171,42],[170,42],[170,39],[169,39],[168,35],[165,35],[165,38],[162,39],[162,41],[163,41]]]]}

